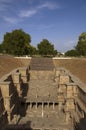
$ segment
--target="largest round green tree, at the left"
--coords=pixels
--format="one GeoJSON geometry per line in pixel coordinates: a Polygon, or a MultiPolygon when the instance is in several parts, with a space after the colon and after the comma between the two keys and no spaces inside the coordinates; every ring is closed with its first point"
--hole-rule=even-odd
{"type": "Polygon", "coordinates": [[[23,30],[13,30],[4,35],[2,49],[12,55],[26,55],[29,52],[31,37],[23,30]]]}

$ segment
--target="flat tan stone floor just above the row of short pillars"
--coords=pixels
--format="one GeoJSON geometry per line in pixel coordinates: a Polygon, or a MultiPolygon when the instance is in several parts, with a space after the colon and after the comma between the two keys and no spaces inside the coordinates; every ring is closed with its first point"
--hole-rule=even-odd
{"type": "MultiPolygon", "coordinates": [[[[58,92],[58,85],[53,80],[30,80],[29,91],[27,93],[27,99],[29,97],[56,97],[58,92]]],[[[34,99],[35,100],[35,99],[34,99]]]]}

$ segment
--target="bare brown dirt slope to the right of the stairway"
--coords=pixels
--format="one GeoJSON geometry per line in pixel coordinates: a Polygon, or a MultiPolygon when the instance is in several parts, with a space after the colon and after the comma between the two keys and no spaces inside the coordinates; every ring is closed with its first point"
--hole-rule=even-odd
{"type": "Polygon", "coordinates": [[[56,67],[64,67],[73,75],[86,83],[86,59],[58,59],[54,60],[56,67]]]}

